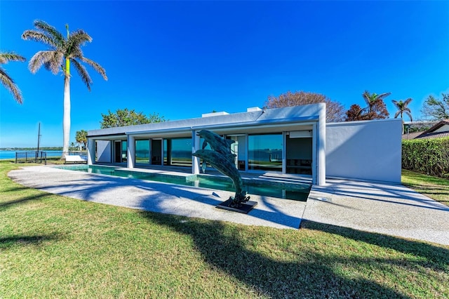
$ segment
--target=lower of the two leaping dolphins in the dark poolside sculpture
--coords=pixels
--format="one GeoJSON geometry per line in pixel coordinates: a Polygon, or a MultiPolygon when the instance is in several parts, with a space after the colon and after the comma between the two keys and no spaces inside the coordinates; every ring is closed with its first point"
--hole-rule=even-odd
{"type": "Polygon", "coordinates": [[[192,155],[202,159],[203,164],[207,162],[210,166],[217,169],[217,171],[220,171],[220,173],[227,175],[231,178],[232,182],[234,182],[236,194],[229,206],[241,207],[243,203],[250,199],[250,197],[246,196],[246,191],[243,190],[243,181],[241,180],[241,175],[237,170],[234,161],[231,161],[227,154],[225,155],[213,150],[197,150],[192,155]]]}

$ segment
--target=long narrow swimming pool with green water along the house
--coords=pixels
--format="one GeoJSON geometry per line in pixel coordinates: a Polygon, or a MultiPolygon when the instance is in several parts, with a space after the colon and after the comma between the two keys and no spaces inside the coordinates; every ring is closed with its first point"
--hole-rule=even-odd
{"type": "MultiPolygon", "coordinates": [[[[139,180],[151,180],[155,182],[168,182],[176,185],[187,185],[215,190],[235,192],[232,180],[227,177],[215,175],[166,175],[161,173],[145,173],[138,171],[128,171],[123,168],[97,165],[74,165],[56,166],[70,171],[83,171],[87,173],[97,173],[102,175],[113,175],[122,178],[137,178],[139,180]]],[[[260,195],[266,197],[276,197],[280,199],[292,199],[297,201],[307,201],[311,185],[307,183],[290,182],[270,182],[268,180],[251,180],[243,178],[243,185],[248,195],[260,195]]]]}

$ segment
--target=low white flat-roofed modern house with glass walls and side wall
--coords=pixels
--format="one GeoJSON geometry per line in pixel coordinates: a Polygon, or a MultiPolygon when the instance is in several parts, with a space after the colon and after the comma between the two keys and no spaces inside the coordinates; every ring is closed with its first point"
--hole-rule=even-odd
{"type": "Polygon", "coordinates": [[[246,112],[216,112],[156,124],[88,131],[88,164],[127,168],[189,167],[200,172],[197,133],[234,140],[242,172],[305,175],[314,185],[328,178],[401,182],[401,119],[326,124],[326,104],[246,112]]]}

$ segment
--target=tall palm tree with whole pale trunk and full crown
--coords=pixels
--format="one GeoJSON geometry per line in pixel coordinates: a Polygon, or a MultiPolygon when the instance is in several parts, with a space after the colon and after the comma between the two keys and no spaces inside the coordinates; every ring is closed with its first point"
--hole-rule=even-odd
{"type": "Polygon", "coordinates": [[[39,41],[48,46],[48,50],[39,51],[29,60],[28,68],[32,74],[35,74],[43,65],[53,74],[62,72],[64,74],[64,117],[62,121],[63,131],[63,147],[62,157],[69,153],[69,135],[70,135],[70,65],[72,64],[78,72],[81,80],[91,91],[92,79],[89,76],[86,67],[81,62],[90,65],[107,80],[105,69],[97,62],[83,56],[81,46],[86,42],[91,42],[92,38],[82,29],[69,33],[69,25],[65,25],[67,29],[67,38],[58,32],[55,27],[48,25],[41,20],[34,21],[36,30],[25,30],[22,39],[31,39],[39,41]]]}

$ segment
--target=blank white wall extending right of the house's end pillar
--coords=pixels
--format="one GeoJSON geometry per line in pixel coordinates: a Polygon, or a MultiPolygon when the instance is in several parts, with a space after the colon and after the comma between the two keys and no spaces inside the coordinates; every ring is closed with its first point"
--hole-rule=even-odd
{"type": "Polygon", "coordinates": [[[402,120],[326,125],[326,175],[401,182],[402,120]]]}

